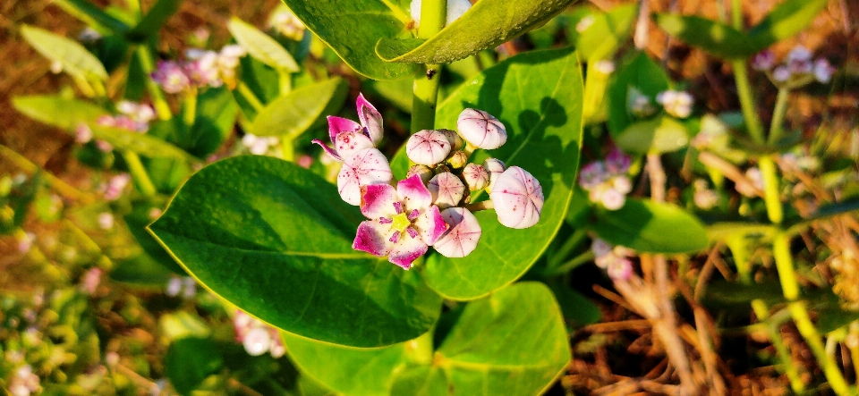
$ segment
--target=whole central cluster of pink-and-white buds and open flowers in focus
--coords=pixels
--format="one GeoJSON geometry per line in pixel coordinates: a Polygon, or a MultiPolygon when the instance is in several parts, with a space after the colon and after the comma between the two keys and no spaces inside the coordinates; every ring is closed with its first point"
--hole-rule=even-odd
{"type": "Polygon", "coordinates": [[[382,117],[361,95],[361,123],[328,117],[328,156],[343,163],[337,175],[340,197],[361,206],[362,222],[353,248],[409,269],[432,246],[446,257],[465,257],[477,248],[481,225],[472,210],[494,207],[498,221],[510,228],[531,227],[540,220],[540,182],[518,166],[498,159],[468,163],[476,148],[493,149],[506,142],[504,124],[492,115],[465,109],[458,132],[424,130],[406,142],[412,162],[407,177],[394,181],[387,158],[376,148],[382,139],[382,117]],[[472,203],[485,190],[489,200],[472,203]]]}

